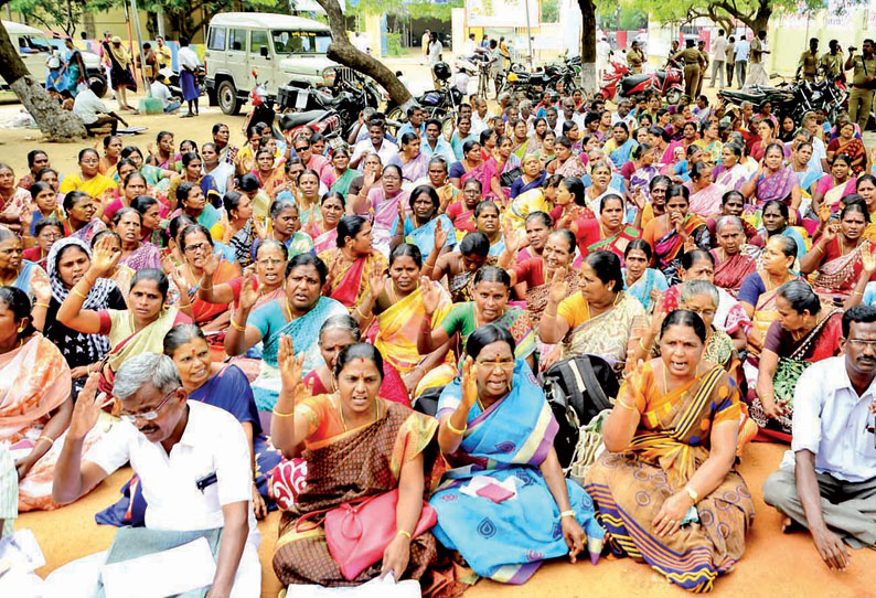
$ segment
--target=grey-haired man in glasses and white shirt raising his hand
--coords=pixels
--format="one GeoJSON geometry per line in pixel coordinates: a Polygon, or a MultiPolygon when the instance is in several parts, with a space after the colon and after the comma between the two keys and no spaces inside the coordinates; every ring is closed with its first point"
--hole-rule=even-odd
{"type": "MultiPolygon", "coordinates": [[[[97,394],[97,374],[88,378],[73,410],[55,464],[54,500],[75,501],[130,461],[148,504],[147,528],[223,528],[207,598],[258,596],[260,536],[250,506],[252,457],[241,424],[223,409],[189,402],[173,361],[143,353],[116,373],[113,394],[121,402],[124,420],[83,457],[85,436],[106,398],[97,394]]],[[[99,564],[94,567],[76,576],[83,589],[96,584],[99,564]]]]}

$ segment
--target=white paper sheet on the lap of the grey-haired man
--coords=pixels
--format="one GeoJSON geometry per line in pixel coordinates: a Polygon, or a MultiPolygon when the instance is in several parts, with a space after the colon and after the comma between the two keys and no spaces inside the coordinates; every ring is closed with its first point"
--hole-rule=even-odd
{"type": "Polygon", "coordinates": [[[216,564],[206,538],[161,553],[104,565],[106,598],[164,598],[209,586],[216,564]]]}

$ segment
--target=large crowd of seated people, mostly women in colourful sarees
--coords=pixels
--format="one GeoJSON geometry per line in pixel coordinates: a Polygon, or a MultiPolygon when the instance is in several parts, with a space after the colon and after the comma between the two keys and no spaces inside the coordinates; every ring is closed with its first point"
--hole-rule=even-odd
{"type": "Polygon", "coordinates": [[[739,459],[770,441],[786,526],[832,569],[873,547],[857,127],[813,113],[782,142],[723,104],[546,94],[479,105],[476,137],[461,108],[450,139],[366,109],[350,147],[254,127],[238,148],[220,124],[0,164],[0,496],[63,509],[129,462],[97,521],[224,527],[212,597],[258,594],[276,510],[284,585],[456,595],[613,554],[707,591],[755,520],[739,459]],[[620,391],[571,479],[542,381],[581,356],[620,391]],[[374,554],[334,547],[351,504],[387,526],[374,554]]]}

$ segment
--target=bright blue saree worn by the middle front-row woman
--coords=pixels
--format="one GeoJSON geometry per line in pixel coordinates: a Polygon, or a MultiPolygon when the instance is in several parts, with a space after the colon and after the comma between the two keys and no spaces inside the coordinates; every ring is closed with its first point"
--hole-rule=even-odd
{"type": "MultiPolygon", "coordinates": [[[[452,414],[461,402],[459,380],[444,389],[437,417],[452,414]]],[[[471,407],[462,442],[447,457],[455,469],[445,473],[429,500],[438,512],[434,533],[449,549],[461,553],[481,577],[523,584],[543,560],[568,554],[559,525],[559,508],[540,466],[549,455],[558,426],[538,382],[522,360],[514,364],[513,387],[504,398],[481,410],[471,407]],[[501,502],[467,493],[480,477],[511,483],[515,495],[501,502]]],[[[575,519],[587,534],[594,560],[605,531],[594,517],[594,502],[573,480],[565,480],[575,519]]]]}

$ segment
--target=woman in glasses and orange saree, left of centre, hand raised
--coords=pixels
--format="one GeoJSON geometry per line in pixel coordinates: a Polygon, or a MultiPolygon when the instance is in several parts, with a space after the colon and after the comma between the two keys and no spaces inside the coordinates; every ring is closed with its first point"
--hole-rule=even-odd
{"type": "Polygon", "coordinates": [[[225,330],[231,319],[228,303],[210,303],[201,299],[197,289],[201,279],[210,276],[213,285],[227,282],[239,275],[237,266],[225,259],[211,259],[213,256],[213,237],[210,231],[200,224],[190,224],[180,233],[180,247],[184,263],[173,268],[167,260],[169,273],[173,282],[171,296],[179,298],[177,307],[192,318],[194,323],[204,331],[218,332],[225,330]],[[214,271],[205,271],[215,268],[214,271]]]}

